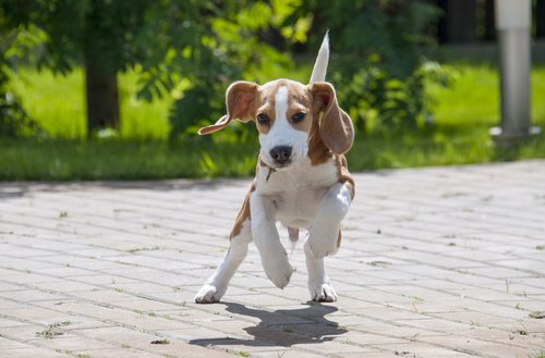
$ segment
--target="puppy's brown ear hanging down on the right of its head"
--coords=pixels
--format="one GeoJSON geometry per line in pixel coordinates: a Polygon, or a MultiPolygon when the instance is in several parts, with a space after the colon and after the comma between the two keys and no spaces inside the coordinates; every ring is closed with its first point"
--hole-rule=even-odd
{"type": "Polygon", "coordinates": [[[313,94],[315,113],[324,113],[319,124],[322,140],[336,155],[347,152],[354,143],[354,126],[350,116],[339,107],[334,87],[327,82],[316,82],[308,86],[313,94]]]}

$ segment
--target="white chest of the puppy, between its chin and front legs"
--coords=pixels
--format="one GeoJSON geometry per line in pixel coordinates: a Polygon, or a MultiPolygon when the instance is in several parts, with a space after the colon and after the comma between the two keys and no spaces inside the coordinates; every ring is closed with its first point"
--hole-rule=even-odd
{"type": "Polygon", "coordinates": [[[274,172],[259,168],[256,194],[269,198],[272,214],[282,225],[308,229],[324,195],[338,182],[331,160],[313,166],[310,160],[298,168],[274,172]]]}

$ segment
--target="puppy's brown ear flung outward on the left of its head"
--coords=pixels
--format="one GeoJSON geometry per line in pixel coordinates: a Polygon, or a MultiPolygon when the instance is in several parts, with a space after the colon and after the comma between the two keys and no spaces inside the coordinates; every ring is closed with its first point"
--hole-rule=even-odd
{"type": "Polygon", "coordinates": [[[198,134],[209,134],[223,129],[233,119],[241,122],[252,121],[254,119],[252,110],[257,95],[257,84],[245,81],[239,81],[229,86],[226,92],[227,114],[215,124],[198,129],[198,134]]]}

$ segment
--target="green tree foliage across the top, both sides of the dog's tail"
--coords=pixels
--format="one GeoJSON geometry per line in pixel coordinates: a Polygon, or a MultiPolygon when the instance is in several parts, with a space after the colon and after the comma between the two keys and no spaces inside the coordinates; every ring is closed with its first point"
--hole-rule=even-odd
{"type": "MultiPolygon", "coordinates": [[[[416,127],[427,111],[428,75],[419,57],[438,11],[425,0],[0,0],[7,28],[36,29],[27,55],[62,74],[93,63],[116,75],[140,75],[138,99],[173,100],[171,138],[187,140],[225,112],[225,89],[237,79],[278,77],[293,44],[330,28],[330,78],[356,127],[375,118],[389,128],[416,127]],[[274,44],[274,45],[272,45],[274,44]],[[340,85],[342,84],[342,85],[340,85]]],[[[213,139],[241,139],[244,129],[213,139]]]]}

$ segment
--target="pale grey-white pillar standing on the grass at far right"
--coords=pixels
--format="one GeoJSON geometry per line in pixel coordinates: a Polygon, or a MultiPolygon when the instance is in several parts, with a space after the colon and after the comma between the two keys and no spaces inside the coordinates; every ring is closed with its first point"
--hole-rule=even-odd
{"type": "Polygon", "coordinates": [[[531,0],[495,0],[499,46],[501,121],[491,128],[497,144],[513,144],[535,133],[531,125],[531,0]]]}

